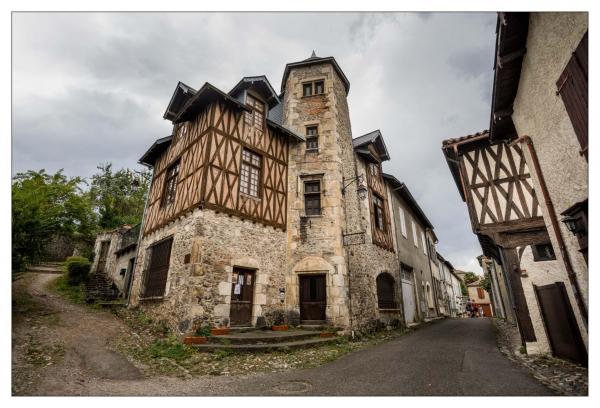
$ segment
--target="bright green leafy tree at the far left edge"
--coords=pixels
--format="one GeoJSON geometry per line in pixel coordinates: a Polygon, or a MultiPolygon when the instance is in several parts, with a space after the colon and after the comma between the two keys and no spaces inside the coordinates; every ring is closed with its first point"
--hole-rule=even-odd
{"type": "Polygon", "coordinates": [[[54,235],[89,239],[95,216],[80,177],[59,170],[18,173],[12,179],[12,269],[22,270],[43,255],[54,235]]]}

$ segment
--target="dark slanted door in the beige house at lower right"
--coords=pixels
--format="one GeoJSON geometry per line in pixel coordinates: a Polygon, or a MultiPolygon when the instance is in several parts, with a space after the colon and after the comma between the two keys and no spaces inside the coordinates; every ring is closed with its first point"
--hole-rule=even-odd
{"type": "Polygon", "coordinates": [[[550,285],[533,285],[548,341],[556,357],[587,366],[587,351],[571,303],[562,282],[550,285]]]}

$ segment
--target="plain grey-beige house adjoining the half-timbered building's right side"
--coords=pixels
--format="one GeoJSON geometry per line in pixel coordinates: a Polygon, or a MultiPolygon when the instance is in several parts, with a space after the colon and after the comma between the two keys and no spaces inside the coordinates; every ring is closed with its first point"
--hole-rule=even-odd
{"type": "Polygon", "coordinates": [[[404,183],[390,174],[383,177],[392,196],[404,314],[406,323],[410,324],[437,316],[426,238],[427,231],[433,231],[433,225],[404,183]]]}

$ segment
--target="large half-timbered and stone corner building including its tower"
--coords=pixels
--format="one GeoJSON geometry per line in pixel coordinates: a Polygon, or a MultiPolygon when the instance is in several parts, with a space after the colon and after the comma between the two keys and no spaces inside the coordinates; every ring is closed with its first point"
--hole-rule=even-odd
{"type": "MultiPolygon", "coordinates": [[[[136,245],[122,231],[96,245],[97,257],[119,252],[129,304],[179,333],[269,324],[277,311],[346,330],[404,324],[399,182],[382,172],[380,131],[352,137],[349,89],[336,60],[314,53],[286,65],[280,92],[265,76],[229,92],[179,83],[164,114],[173,134],[140,159],[154,175],[136,245]]],[[[411,267],[427,296],[432,226],[417,211],[411,267]]],[[[430,298],[425,317],[437,314],[430,298]]]]}

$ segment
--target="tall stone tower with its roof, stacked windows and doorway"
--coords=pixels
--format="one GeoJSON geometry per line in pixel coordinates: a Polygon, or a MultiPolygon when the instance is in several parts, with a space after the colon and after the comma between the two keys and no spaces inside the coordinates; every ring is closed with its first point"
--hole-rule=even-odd
{"type": "Polygon", "coordinates": [[[317,57],[314,51],[306,60],[287,64],[282,80],[284,126],[307,136],[306,143],[290,148],[286,307],[298,311],[302,320],[321,320],[315,318],[318,311],[309,310],[312,306],[303,306],[302,301],[317,293],[317,298],[326,298],[327,322],[343,327],[350,324],[343,234],[348,230],[347,213],[352,211],[347,207],[354,202],[356,213],[358,206],[355,189],[342,193],[344,179],[356,175],[346,99],[349,88],[335,59],[317,57]],[[320,198],[318,206],[306,198],[315,194],[320,198]],[[317,276],[321,281],[308,282],[317,276]]]}

